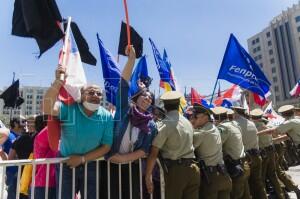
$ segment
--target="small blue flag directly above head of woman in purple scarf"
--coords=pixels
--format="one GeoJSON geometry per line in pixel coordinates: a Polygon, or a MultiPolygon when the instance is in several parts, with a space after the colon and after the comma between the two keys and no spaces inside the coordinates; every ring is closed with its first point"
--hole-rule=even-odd
{"type": "MultiPolygon", "coordinates": [[[[139,91],[138,80],[144,82],[151,79],[148,75],[146,56],[144,55],[139,60],[130,79],[130,96],[133,96],[139,91]]],[[[145,85],[149,86],[149,85],[145,85]]]]}

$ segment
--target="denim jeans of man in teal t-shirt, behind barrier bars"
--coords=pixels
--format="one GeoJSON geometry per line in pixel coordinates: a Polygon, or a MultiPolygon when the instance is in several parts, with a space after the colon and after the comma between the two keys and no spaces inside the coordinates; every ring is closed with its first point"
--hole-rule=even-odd
{"type": "MultiPolygon", "coordinates": [[[[56,166],[56,192],[57,198],[59,194],[59,165],[56,166]]],[[[72,198],[72,169],[67,165],[63,165],[62,169],[62,199],[74,199],[72,198]]],[[[87,163],[87,199],[96,198],[96,162],[87,163]]],[[[84,198],[84,165],[80,165],[75,168],[75,194],[80,192],[81,199],[84,198]]]]}

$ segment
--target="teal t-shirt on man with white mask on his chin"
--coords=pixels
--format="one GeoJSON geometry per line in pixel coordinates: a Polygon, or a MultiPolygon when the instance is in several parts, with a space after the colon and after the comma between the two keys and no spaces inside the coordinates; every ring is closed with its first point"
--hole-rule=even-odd
{"type": "Polygon", "coordinates": [[[82,155],[103,144],[112,145],[113,119],[103,107],[89,117],[81,104],[61,103],[58,118],[61,121],[60,153],[64,157],[82,155]]]}

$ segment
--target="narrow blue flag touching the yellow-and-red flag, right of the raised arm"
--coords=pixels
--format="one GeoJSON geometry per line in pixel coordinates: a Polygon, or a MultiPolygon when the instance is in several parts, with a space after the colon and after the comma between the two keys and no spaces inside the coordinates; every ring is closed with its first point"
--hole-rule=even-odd
{"type": "Polygon", "coordinates": [[[161,81],[168,83],[171,86],[172,90],[176,90],[171,71],[169,70],[169,65],[167,64],[167,62],[164,59],[162,59],[159,51],[157,50],[155,44],[153,43],[153,41],[150,38],[149,38],[149,41],[152,46],[155,63],[156,63],[157,70],[159,72],[161,81]]]}

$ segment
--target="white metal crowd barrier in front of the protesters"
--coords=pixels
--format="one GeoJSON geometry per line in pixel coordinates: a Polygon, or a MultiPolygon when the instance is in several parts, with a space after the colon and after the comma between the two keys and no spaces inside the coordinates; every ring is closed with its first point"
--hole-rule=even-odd
{"type": "MultiPolygon", "coordinates": [[[[3,170],[2,177],[0,179],[0,198],[5,199],[4,193],[5,193],[5,173],[6,168],[11,166],[17,166],[18,167],[18,175],[17,175],[17,191],[16,191],[16,199],[19,199],[20,196],[20,178],[21,178],[21,168],[24,165],[32,165],[32,175],[31,175],[31,199],[34,199],[34,190],[35,190],[35,174],[36,174],[36,166],[37,165],[46,165],[46,186],[45,186],[45,198],[48,198],[48,192],[49,192],[49,172],[50,172],[50,165],[53,164],[59,164],[59,180],[58,182],[58,199],[62,199],[62,173],[63,173],[63,162],[67,160],[67,158],[48,158],[48,159],[33,159],[33,160],[7,160],[7,161],[1,161],[0,160],[0,169],[3,170]]],[[[96,162],[96,199],[99,199],[99,162],[105,161],[103,158],[95,160],[96,162]]],[[[142,171],[142,159],[139,159],[139,188],[140,188],[140,198],[143,199],[143,171],[142,171]]],[[[110,162],[107,162],[107,194],[108,199],[111,198],[111,187],[110,187],[110,162]]],[[[132,162],[126,163],[129,165],[129,187],[130,187],[130,199],[132,199],[132,162]]],[[[121,186],[121,166],[124,164],[118,164],[118,170],[119,170],[119,199],[122,199],[122,186],[121,186]]],[[[161,166],[160,161],[157,159],[157,165],[159,166],[159,172],[160,172],[160,195],[161,199],[165,198],[165,182],[164,182],[164,174],[163,169],[161,166]]],[[[72,169],[72,198],[75,198],[75,168],[72,169]]],[[[87,163],[84,165],[84,198],[87,198],[87,163]]],[[[150,195],[150,198],[153,198],[153,195],[150,195]]]]}

